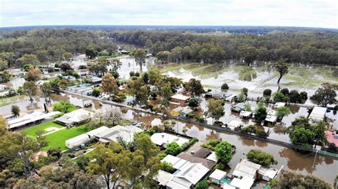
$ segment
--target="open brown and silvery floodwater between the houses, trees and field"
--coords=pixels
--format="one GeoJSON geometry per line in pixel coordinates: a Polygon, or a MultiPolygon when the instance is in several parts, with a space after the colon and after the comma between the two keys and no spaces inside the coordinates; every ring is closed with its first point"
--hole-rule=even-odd
{"type": "MultiPolygon", "coordinates": [[[[128,79],[129,72],[134,71],[137,72],[140,70],[139,66],[135,65],[135,61],[133,58],[122,58],[121,59],[122,66],[120,75],[123,79],[128,79]]],[[[143,67],[143,70],[148,70],[153,66],[153,60],[148,60],[147,64],[143,67]]],[[[178,65],[175,64],[171,70],[168,70],[168,66],[170,65],[161,65],[159,68],[160,70],[164,71],[168,75],[173,75],[175,77],[181,77],[183,80],[188,81],[190,78],[198,78],[202,80],[203,85],[205,87],[217,87],[219,88],[220,85],[222,85],[223,82],[227,82],[230,85],[230,89],[232,88],[233,92],[238,92],[242,87],[247,87],[249,91],[249,95],[252,95],[253,97],[255,95],[261,96],[262,90],[265,87],[262,87],[264,84],[270,83],[269,81],[272,80],[271,77],[275,77],[273,73],[268,72],[267,70],[262,71],[266,74],[258,74],[257,77],[252,80],[251,82],[243,82],[241,80],[238,80],[238,73],[236,66],[226,66],[225,68],[218,69],[218,70],[212,70],[215,69],[214,65],[211,65],[210,68],[205,69],[201,65],[195,65],[195,67],[189,68],[189,66],[184,65],[178,65]],[[203,68],[203,72],[199,73],[197,68],[203,68]],[[165,70],[167,69],[167,70],[165,70]],[[213,71],[214,73],[205,73],[205,70],[213,71]],[[239,84],[237,84],[239,83],[239,84]]],[[[307,68],[309,69],[309,68],[307,68]]],[[[311,68],[312,69],[312,68],[311,68]]],[[[257,72],[263,70],[262,68],[257,68],[257,72]]],[[[315,69],[314,69],[315,70],[315,69]]],[[[294,70],[290,71],[295,72],[294,70]]],[[[317,71],[316,71],[317,72],[317,71]]],[[[325,78],[326,76],[321,76],[320,78],[325,78]]],[[[17,77],[19,78],[19,77],[17,77]]],[[[317,78],[317,77],[316,77],[317,78]]],[[[319,77],[318,77],[319,78],[319,77]]],[[[282,85],[286,85],[283,81],[282,85]]],[[[22,80],[19,78],[17,80],[11,80],[11,85],[18,86],[17,83],[23,83],[22,80]],[[19,82],[20,81],[20,82],[19,82]]],[[[290,81],[290,78],[287,78],[287,82],[290,81]]],[[[312,84],[314,83],[313,80],[311,80],[312,84]]],[[[335,78],[332,78],[332,82],[336,82],[335,78]]],[[[273,82],[272,82],[273,83],[273,82]]],[[[298,84],[297,84],[298,85],[298,84]]],[[[297,86],[297,90],[307,90],[314,92],[314,90],[317,89],[318,85],[302,85],[297,86]]],[[[292,86],[292,85],[290,85],[292,86]]],[[[274,89],[273,87],[269,87],[271,89],[274,89]]],[[[290,90],[292,87],[289,87],[290,90]]],[[[309,92],[309,94],[311,94],[309,92]]],[[[85,98],[85,97],[84,97],[85,98]]],[[[51,97],[52,104],[54,102],[58,102],[60,100],[65,100],[68,102],[71,102],[72,104],[81,106],[82,104],[82,98],[76,97],[72,95],[52,95],[51,97]]],[[[27,110],[31,109],[31,107],[34,108],[42,108],[43,107],[43,98],[36,97],[34,100],[34,104],[31,105],[31,102],[29,101],[28,97],[24,97],[23,99],[19,99],[18,102],[15,102],[14,104],[19,105],[21,112],[26,112],[27,110]]],[[[252,105],[252,107],[257,107],[256,102],[248,102],[252,105]]],[[[205,112],[207,110],[208,100],[203,100],[201,102],[200,112],[205,112]]],[[[267,105],[268,107],[272,108],[271,104],[267,105]]],[[[51,107],[51,105],[50,105],[51,107]]],[[[111,104],[104,104],[102,102],[93,101],[93,106],[91,107],[93,110],[95,109],[106,109],[112,107],[111,104]]],[[[220,121],[224,121],[225,123],[231,121],[231,120],[239,120],[241,119],[238,117],[238,114],[231,112],[231,104],[226,103],[225,104],[225,115],[220,118],[220,121]]],[[[291,124],[291,121],[295,120],[297,117],[307,117],[308,112],[306,108],[303,107],[291,107],[292,114],[290,114],[287,117],[284,117],[282,119],[282,125],[283,126],[289,126],[291,124]]],[[[135,121],[142,121],[148,126],[155,126],[162,124],[162,119],[159,116],[135,112],[133,110],[128,109],[122,109],[122,112],[125,114],[126,119],[133,119],[135,121]]],[[[0,114],[6,115],[11,114],[11,104],[0,107],[0,114]]],[[[333,112],[329,112],[327,114],[328,117],[335,119],[333,122],[334,124],[337,123],[337,116],[338,114],[334,114],[333,112]]],[[[212,119],[207,120],[208,123],[212,121],[212,119]]],[[[255,122],[248,120],[245,121],[245,125],[250,124],[256,124],[255,122]]],[[[252,139],[246,139],[243,136],[237,136],[235,134],[225,134],[222,132],[217,132],[212,129],[205,129],[202,126],[194,125],[194,124],[188,124],[183,123],[180,121],[176,121],[176,125],[174,126],[175,131],[178,133],[183,133],[183,128],[187,128],[188,131],[186,131],[185,134],[188,136],[192,136],[195,138],[198,138],[200,141],[208,141],[210,139],[222,139],[224,141],[228,141],[230,144],[234,144],[237,147],[236,153],[232,158],[232,161],[229,163],[229,168],[227,168],[227,172],[231,172],[232,168],[235,168],[236,164],[239,163],[240,158],[245,158],[245,153],[250,151],[252,148],[258,148],[262,151],[266,151],[267,153],[272,153],[275,158],[278,161],[277,165],[274,165],[275,168],[280,168],[281,166],[284,166],[284,169],[291,170],[291,171],[297,171],[297,173],[302,174],[312,174],[319,178],[322,178],[326,180],[329,183],[334,183],[334,178],[337,175],[338,170],[338,163],[337,160],[334,160],[333,158],[324,157],[324,156],[317,156],[317,158],[314,159],[314,154],[304,154],[299,153],[297,151],[294,151],[290,148],[285,148],[282,146],[277,146],[275,144],[267,144],[262,141],[255,141],[252,139]]],[[[270,137],[272,139],[278,139],[281,141],[289,141],[289,136],[287,134],[277,134],[273,129],[270,129],[271,134],[270,137]]],[[[258,184],[257,188],[262,188],[262,183],[258,184]]]]}

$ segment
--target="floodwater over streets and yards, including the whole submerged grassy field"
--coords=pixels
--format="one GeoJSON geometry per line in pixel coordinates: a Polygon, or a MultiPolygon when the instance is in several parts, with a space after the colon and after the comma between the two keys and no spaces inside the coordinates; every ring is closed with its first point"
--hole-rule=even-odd
{"type": "MultiPolygon", "coordinates": [[[[119,73],[123,80],[128,80],[129,72],[137,72],[140,68],[135,65],[133,58],[123,58],[121,59],[121,68],[119,73]]],[[[223,82],[227,82],[230,86],[231,92],[239,92],[242,87],[247,87],[249,89],[249,97],[261,97],[262,91],[265,88],[270,88],[272,90],[277,90],[275,87],[277,75],[274,72],[269,72],[267,66],[262,65],[255,68],[257,72],[257,77],[252,81],[243,81],[240,80],[240,72],[242,65],[201,65],[201,64],[177,64],[170,63],[168,65],[155,65],[154,60],[148,60],[148,63],[143,68],[143,70],[148,70],[150,67],[155,66],[163,74],[170,76],[180,77],[184,81],[190,80],[190,78],[196,78],[201,80],[205,89],[220,89],[220,85],[223,82]]],[[[338,82],[337,78],[331,77],[333,67],[327,68],[316,68],[316,67],[307,67],[305,65],[299,65],[299,67],[292,66],[290,73],[285,75],[282,79],[282,87],[288,87],[290,90],[297,89],[299,91],[307,91],[309,96],[314,93],[315,90],[319,87],[322,81],[329,80],[330,82],[338,82]],[[308,70],[310,73],[308,75],[303,75],[302,78],[299,78],[297,75],[299,72],[304,72],[302,70],[308,70]],[[326,71],[325,71],[326,70],[326,71]],[[312,77],[313,76],[313,77],[312,77]],[[299,81],[302,80],[302,81],[299,81]]],[[[14,88],[22,86],[24,83],[23,78],[14,77],[6,85],[11,85],[14,88]]],[[[43,108],[44,99],[36,97],[34,103],[31,104],[28,97],[20,96],[15,99],[10,99],[10,103],[6,102],[4,106],[0,107],[0,114],[10,114],[11,105],[16,104],[20,107],[21,112],[26,112],[30,109],[40,109],[43,108]]],[[[60,100],[65,100],[71,102],[72,104],[81,106],[82,98],[79,96],[60,94],[52,95],[52,103],[58,102],[60,100]]],[[[250,102],[250,101],[249,101],[250,102]]],[[[306,102],[307,104],[312,103],[310,100],[306,102]]],[[[203,100],[201,103],[202,111],[205,111],[207,108],[208,101],[203,100]]],[[[250,102],[252,107],[256,107],[256,102],[250,102]]],[[[267,104],[271,106],[271,104],[267,104]]],[[[93,101],[92,109],[105,109],[111,107],[111,104],[105,104],[103,102],[93,101]]],[[[231,120],[241,120],[237,114],[230,111],[231,104],[225,104],[225,115],[220,118],[221,121],[231,121],[231,120]]],[[[308,110],[305,107],[291,107],[292,114],[282,119],[282,125],[289,126],[293,120],[297,117],[307,117],[308,110]]],[[[133,119],[135,121],[143,121],[148,125],[158,125],[162,123],[161,117],[145,114],[140,112],[135,112],[130,109],[123,109],[126,119],[133,119]]],[[[337,118],[338,114],[329,114],[329,117],[332,117],[333,122],[331,124],[338,124],[337,118]]],[[[207,120],[208,123],[212,121],[211,119],[207,120]]],[[[252,121],[245,122],[245,125],[255,124],[252,121]]],[[[240,161],[240,158],[245,158],[245,153],[250,151],[252,148],[259,148],[269,153],[272,153],[278,161],[278,164],[275,165],[275,168],[280,168],[284,166],[287,170],[297,171],[303,174],[312,174],[316,175],[319,178],[327,180],[329,183],[334,182],[334,178],[337,175],[338,162],[333,158],[317,156],[314,159],[314,154],[304,154],[298,153],[290,148],[285,148],[277,146],[275,144],[268,144],[262,141],[255,141],[252,139],[246,139],[243,136],[237,136],[235,134],[225,134],[221,132],[214,131],[212,129],[206,129],[202,126],[195,124],[183,123],[177,121],[175,130],[179,133],[182,133],[183,127],[187,128],[188,131],[186,134],[188,136],[196,137],[201,141],[208,141],[210,139],[223,139],[225,141],[234,144],[237,147],[235,156],[233,156],[232,161],[229,163],[229,168],[235,168],[235,165],[240,161]],[[336,174],[327,174],[327,173],[336,173],[336,174]]],[[[287,134],[279,134],[272,129],[270,134],[272,139],[277,139],[280,141],[289,142],[289,136],[287,134]]]]}

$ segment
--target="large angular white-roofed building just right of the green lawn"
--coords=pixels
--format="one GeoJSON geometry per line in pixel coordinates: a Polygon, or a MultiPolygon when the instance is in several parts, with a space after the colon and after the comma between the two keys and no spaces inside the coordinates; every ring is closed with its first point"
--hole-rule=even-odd
{"type": "Polygon", "coordinates": [[[104,131],[99,132],[98,134],[94,134],[94,137],[103,143],[109,143],[111,141],[118,141],[119,139],[123,139],[126,142],[133,141],[133,137],[135,133],[142,132],[143,129],[138,128],[133,125],[126,126],[113,126],[112,128],[106,129],[104,131]]]}

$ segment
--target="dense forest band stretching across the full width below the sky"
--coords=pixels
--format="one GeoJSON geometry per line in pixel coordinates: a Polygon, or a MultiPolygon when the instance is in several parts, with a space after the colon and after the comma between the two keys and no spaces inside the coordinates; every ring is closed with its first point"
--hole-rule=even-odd
{"type": "Polygon", "coordinates": [[[0,53],[13,53],[14,60],[25,54],[36,55],[40,62],[61,60],[64,53],[116,50],[118,43],[128,43],[153,55],[167,53],[174,62],[223,63],[241,60],[284,59],[290,63],[337,65],[338,33],[325,31],[272,31],[267,34],[196,33],[182,30],[77,30],[34,29],[2,31],[0,53]]]}

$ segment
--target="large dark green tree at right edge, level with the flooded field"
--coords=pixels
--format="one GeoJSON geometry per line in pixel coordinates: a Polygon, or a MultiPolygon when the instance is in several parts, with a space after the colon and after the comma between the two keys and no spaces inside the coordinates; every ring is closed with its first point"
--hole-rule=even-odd
{"type": "Polygon", "coordinates": [[[324,82],[322,87],[312,95],[311,99],[316,100],[320,106],[326,107],[327,104],[334,104],[337,102],[337,90],[338,85],[324,82]]]}

